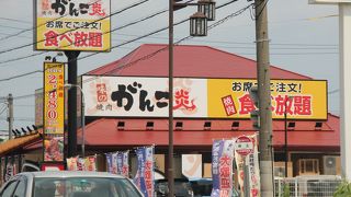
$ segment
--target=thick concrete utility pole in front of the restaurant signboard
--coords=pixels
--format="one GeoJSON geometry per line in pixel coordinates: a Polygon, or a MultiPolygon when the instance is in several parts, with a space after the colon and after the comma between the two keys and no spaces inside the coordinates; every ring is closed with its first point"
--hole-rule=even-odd
{"type": "Polygon", "coordinates": [[[274,196],[273,161],[272,161],[272,111],[270,90],[270,58],[267,20],[268,0],[254,0],[256,10],[256,50],[257,76],[260,111],[260,175],[261,196],[274,196]]]}

